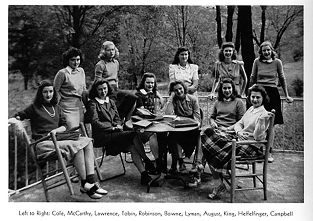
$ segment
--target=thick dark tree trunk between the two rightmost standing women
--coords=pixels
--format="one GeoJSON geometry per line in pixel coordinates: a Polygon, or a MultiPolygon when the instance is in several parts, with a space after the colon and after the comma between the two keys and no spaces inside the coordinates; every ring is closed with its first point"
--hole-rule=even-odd
{"type": "MultiPolygon", "coordinates": [[[[252,38],[251,6],[238,6],[238,25],[240,30],[241,54],[245,62],[244,67],[249,82],[255,58],[252,38]]],[[[247,88],[248,87],[246,87],[246,93],[247,88]]]]}

